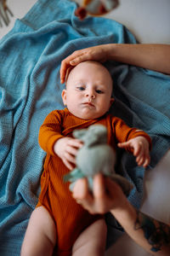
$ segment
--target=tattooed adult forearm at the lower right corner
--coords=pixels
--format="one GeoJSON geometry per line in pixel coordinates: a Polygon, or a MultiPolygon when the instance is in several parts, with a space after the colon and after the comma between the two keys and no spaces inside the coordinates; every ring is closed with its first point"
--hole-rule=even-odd
{"type": "Polygon", "coordinates": [[[170,227],[136,211],[128,202],[123,208],[111,213],[133,241],[153,255],[170,255],[170,227]]]}

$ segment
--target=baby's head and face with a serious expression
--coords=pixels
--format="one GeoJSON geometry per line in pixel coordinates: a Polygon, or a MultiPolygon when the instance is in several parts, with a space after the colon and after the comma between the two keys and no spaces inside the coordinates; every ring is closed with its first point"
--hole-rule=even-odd
{"type": "Polygon", "coordinates": [[[62,92],[64,104],[81,119],[97,119],[111,107],[112,79],[98,62],[84,61],[71,70],[62,92]]]}

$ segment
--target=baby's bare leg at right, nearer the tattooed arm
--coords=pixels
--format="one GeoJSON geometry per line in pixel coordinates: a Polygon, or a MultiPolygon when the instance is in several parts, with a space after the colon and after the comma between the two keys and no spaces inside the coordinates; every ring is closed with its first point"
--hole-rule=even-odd
{"type": "Polygon", "coordinates": [[[104,256],[107,228],[104,219],[91,224],[75,241],[72,256],[104,256]]]}

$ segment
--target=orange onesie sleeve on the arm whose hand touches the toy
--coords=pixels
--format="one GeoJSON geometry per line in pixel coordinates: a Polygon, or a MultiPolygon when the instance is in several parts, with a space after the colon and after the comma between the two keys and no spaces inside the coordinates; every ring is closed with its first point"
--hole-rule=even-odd
{"type": "Polygon", "coordinates": [[[62,136],[62,114],[54,110],[48,114],[40,127],[38,142],[40,147],[49,154],[54,153],[54,143],[62,136]]]}

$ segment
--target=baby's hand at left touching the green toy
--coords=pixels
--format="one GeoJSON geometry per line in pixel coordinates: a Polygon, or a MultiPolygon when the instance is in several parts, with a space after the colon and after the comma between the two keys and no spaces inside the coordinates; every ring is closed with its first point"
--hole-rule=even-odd
{"type": "Polygon", "coordinates": [[[72,137],[62,137],[54,144],[54,153],[58,154],[65,166],[72,170],[76,165],[76,155],[79,148],[82,148],[82,142],[72,137]]]}

